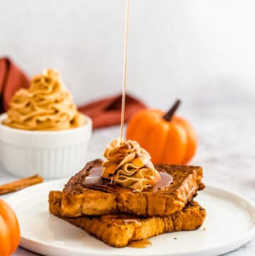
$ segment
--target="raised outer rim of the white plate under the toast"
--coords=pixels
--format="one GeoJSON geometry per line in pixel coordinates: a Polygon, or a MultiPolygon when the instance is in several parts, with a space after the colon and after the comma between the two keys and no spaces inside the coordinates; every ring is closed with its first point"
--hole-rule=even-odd
{"type": "MultiPolygon", "coordinates": [[[[67,181],[68,181],[68,179],[55,179],[53,181],[43,182],[42,184],[37,184],[33,187],[28,187],[28,188],[23,189],[21,191],[17,191],[15,194],[8,196],[5,199],[5,201],[8,204],[10,204],[11,206],[15,206],[15,205],[18,204],[18,203],[15,202],[16,196],[20,193],[28,192],[29,190],[34,190],[35,188],[38,188],[38,187],[43,188],[45,186],[50,186],[50,184],[53,185],[53,184],[57,184],[57,183],[60,183],[60,182],[64,183],[64,182],[67,182],[67,181]]],[[[229,189],[225,189],[225,188],[222,188],[222,187],[217,187],[215,185],[205,184],[205,192],[207,192],[208,194],[212,194],[213,196],[216,196],[213,193],[213,191],[220,191],[220,192],[223,192],[223,194],[227,194],[228,196],[232,196],[233,199],[238,199],[238,200],[243,201],[247,206],[249,206],[249,209],[246,209],[246,211],[248,211],[249,214],[252,211],[254,213],[254,216],[255,216],[255,203],[251,199],[246,198],[245,196],[243,196],[242,194],[239,194],[236,191],[231,191],[229,189]],[[210,192],[210,191],[212,191],[212,192],[210,192]]],[[[226,196],[217,196],[217,197],[223,198],[226,201],[229,201],[229,199],[227,199],[226,196]]],[[[230,200],[230,201],[233,201],[233,200],[230,200]]],[[[238,204],[238,202],[236,202],[236,204],[238,204]]],[[[240,206],[240,207],[242,207],[242,206],[240,206]]],[[[242,207],[242,208],[244,208],[244,207],[242,207]]],[[[250,217],[251,217],[251,220],[252,220],[253,217],[252,216],[250,216],[250,217]]],[[[244,245],[245,243],[248,243],[252,238],[255,238],[255,220],[252,220],[252,221],[253,221],[253,226],[246,233],[244,233],[244,235],[242,235],[242,238],[234,239],[229,243],[222,243],[222,244],[217,245],[217,246],[207,247],[206,249],[188,250],[187,252],[181,252],[181,253],[175,254],[175,255],[176,256],[179,256],[179,255],[180,256],[188,256],[188,255],[192,256],[192,255],[204,255],[205,253],[207,255],[218,255],[218,254],[215,254],[215,252],[220,252],[220,254],[222,254],[222,253],[230,252],[232,250],[236,250],[237,248],[244,245]],[[212,252],[212,251],[214,251],[214,252],[212,252]]],[[[52,252],[52,250],[55,250],[56,252],[58,250],[63,250],[63,247],[61,247],[61,246],[50,245],[49,243],[45,243],[43,241],[37,240],[36,238],[33,238],[33,239],[26,238],[21,234],[20,246],[24,247],[28,250],[31,250],[32,246],[28,245],[29,243],[35,244],[34,247],[38,247],[38,245],[40,245],[39,247],[45,247],[44,252],[42,250],[38,250],[38,251],[35,251],[34,249],[32,250],[33,252],[37,252],[37,253],[45,253],[45,251],[47,252],[48,250],[50,250],[51,252],[52,252]]],[[[81,253],[80,249],[70,250],[68,248],[64,248],[64,250],[67,250],[68,252],[72,252],[72,253],[75,253],[75,252],[81,253]]],[[[134,252],[135,252],[135,250],[134,250],[134,252]]],[[[98,252],[91,252],[90,250],[86,250],[86,249],[82,253],[84,253],[84,255],[87,255],[87,256],[98,256],[98,252]]],[[[104,252],[103,255],[112,256],[113,254],[112,254],[112,252],[104,252]]],[[[152,252],[152,253],[147,253],[147,255],[148,256],[168,256],[170,254],[168,254],[167,252],[157,252],[157,254],[155,254],[155,252],[152,252]]],[[[130,254],[125,254],[125,256],[133,256],[133,254],[132,254],[132,252],[130,252],[130,254]]],[[[173,255],[171,255],[171,256],[173,256],[173,255]]]]}

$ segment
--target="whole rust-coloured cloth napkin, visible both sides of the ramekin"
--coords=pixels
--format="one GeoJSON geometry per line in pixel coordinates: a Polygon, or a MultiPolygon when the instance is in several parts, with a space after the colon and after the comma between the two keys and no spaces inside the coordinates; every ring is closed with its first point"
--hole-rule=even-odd
{"type": "MultiPolygon", "coordinates": [[[[0,58],[0,113],[8,108],[11,97],[21,88],[28,87],[29,79],[21,69],[8,58],[0,58]]],[[[122,95],[106,97],[79,107],[79,111],[91,117],[93,128],[120,124],[122,95]]],[[[145,104],[130,95],[125,99],[125,122],[145,104]]]]}

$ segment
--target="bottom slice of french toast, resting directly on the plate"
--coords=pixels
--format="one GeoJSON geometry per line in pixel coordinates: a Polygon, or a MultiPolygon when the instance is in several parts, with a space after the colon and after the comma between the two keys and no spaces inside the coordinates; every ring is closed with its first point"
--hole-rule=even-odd
{"type": "Polygon", "coordinates": [[[50,213],[84,229],[104,243],[114,247],[124,247],[135,240],[180,230],[195,230],[205,219],[205,209],[191,201],[184,208],[165,217],[138,217],[119,215],[82,216],[64,218],[62,216],[62,192],[51,191],[49,196],[50,213]]]}

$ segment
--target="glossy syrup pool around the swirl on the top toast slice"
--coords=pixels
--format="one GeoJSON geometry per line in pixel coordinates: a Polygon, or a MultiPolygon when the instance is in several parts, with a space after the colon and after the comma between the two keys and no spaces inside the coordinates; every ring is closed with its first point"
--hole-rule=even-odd
{"type": "MultiPolygon", "coordinates": [[[[89,189],[98,189],[108,193],[135,193],[135,189],[128,187],[116,186],[113,183],[110,183],[108,180],[103,179],[102,177],[103,168],[94,167],[89,171],[89,175],[84,179],[82,185],[89,189]]],[[[153,187],[149,189],[144,189],[143,191],[157,191],[159,189],[164,189],[169,187],[173,182],[173,177],[167,172],[159,172],[161,179],[159,182],[154,184],[153,187]]]]}

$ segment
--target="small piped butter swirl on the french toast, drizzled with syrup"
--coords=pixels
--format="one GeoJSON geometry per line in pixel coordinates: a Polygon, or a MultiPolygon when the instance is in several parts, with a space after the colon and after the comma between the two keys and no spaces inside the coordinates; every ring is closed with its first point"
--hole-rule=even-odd
{"type": "Polygon", "coordinates": [[[159,179],[149,153],[133,140],[113,140],[106,148],[103,162],[104,179],[113,184],[142,191],[153,187],[159,179]]]}

